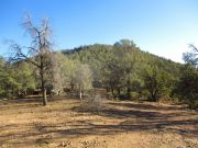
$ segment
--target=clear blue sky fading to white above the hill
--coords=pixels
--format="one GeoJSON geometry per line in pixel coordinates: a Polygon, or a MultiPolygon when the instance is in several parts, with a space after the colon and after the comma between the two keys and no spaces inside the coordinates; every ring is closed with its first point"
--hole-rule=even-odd
{"type": "Polygon", "coordinates": [[[48,18],[55,49],[132,39],[142,50],[183,62],[198,45],[198,0],[0,0],[0,55],[7,41],[28,45],[21,23],[48,18]]]}

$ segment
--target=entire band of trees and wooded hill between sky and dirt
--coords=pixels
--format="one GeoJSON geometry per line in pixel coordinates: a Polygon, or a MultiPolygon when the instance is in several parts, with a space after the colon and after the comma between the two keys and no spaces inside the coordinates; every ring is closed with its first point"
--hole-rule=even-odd
{"type": "Polygon", "coordinates": [[[130,39],[54,52],[48,20],[35,26],[26,16],[23,26],[30,46],[12,43],[9,60],[0,57],[1,96],[23,96],[40,89],[46,105],[47,90],[61,94],[69,88],[82,99],[95,87],[119,99],[178,100],[198,106],[198,49],[194,45],[184,54],[186,65],[143,52],[130,39]]]}

